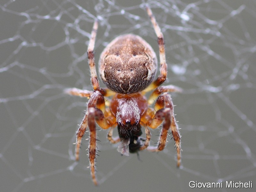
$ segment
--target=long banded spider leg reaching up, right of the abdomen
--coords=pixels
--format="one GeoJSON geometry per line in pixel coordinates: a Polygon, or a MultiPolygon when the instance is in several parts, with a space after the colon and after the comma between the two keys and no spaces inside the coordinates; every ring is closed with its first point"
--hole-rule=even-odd
{"type": "Polygon", "coordinates": [[[158,26],[158,24],[156,22],[156,18],[154,17],[151,9],[148,6],[146,6],[146,10],[148,12],[148,16],[151,20],[151,23],[153,24],[153,27],[155,29],[156,36],[157,36],[157,42],[158,42],[158,46],[159,46],[159,57],[160,57],[160,75],[157,77],[157,79],[152,84],[150,84],[143,91],[144,94],[148,91],[156,89],[156,87],[158,87],[159,85],[164,83],[166,76],[167,76],[167,64],[165,61],[165,49],[164,49],[164,36],[163,36],[163,33],[161,32],[160,27],[158,26]]]}

